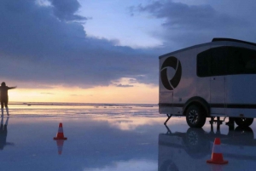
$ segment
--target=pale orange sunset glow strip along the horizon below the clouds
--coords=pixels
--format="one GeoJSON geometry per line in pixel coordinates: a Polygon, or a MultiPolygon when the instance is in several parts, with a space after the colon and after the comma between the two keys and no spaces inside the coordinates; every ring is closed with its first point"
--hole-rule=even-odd
{"type": "Polygon", "coordinates": [[[9,90],[9,101],[156,104],[158,87],[136,83],[134,87],[126,88],[115,85],[95,88],[15,88],[9,90]]]}

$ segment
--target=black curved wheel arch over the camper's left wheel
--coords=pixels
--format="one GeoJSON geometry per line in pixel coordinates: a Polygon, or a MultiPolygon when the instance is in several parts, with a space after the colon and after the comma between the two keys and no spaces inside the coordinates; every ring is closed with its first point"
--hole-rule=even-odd
{"type": "Polygon", "coordinates": [[[207,100],[199,96],[195,96],[187,100],[185,105],[183,105],[183,115],[186,115],[186,111],[189,108],[189,105],[198,105],[201,106],[204,111],[206,111],[207,117],[210,117],[210,105],[208,104],[207,100]]]}

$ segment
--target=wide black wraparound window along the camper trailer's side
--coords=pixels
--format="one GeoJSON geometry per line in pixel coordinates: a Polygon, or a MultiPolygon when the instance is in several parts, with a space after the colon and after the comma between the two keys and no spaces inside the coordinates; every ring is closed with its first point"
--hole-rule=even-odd
{"type": "Polygon", "coordinates": [[[197,55],[197,76],[256,74],[256,51],[248,48],[210,48],[197,55]]]}

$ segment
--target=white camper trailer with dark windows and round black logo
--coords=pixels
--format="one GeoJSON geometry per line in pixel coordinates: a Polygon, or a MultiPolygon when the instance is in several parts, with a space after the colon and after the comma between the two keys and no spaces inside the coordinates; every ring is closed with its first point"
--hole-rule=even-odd
{"type": "Polygon", "coordinates": [[[203,127],[207,117],[234,117],[239,126],[253,123],[256,43],[213,38],[159,59],[160,114],[184,116],[192,128],[203,127]]]}

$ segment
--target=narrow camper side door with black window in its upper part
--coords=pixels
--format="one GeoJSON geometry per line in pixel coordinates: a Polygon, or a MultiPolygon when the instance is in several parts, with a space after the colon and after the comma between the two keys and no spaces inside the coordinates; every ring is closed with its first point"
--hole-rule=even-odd
{"type": "Polygon", "coordinates": [[[211,112],[225,113],[225,74],[226,58],[225,48],[211,48],[211,112]]]}

